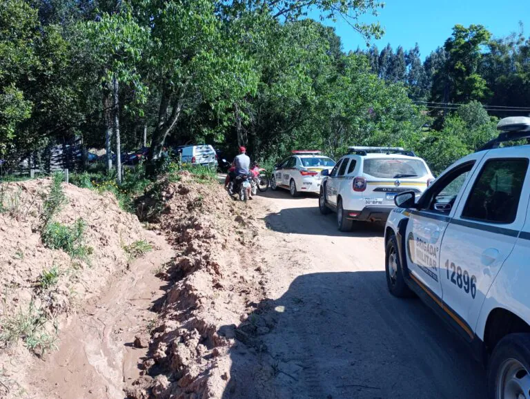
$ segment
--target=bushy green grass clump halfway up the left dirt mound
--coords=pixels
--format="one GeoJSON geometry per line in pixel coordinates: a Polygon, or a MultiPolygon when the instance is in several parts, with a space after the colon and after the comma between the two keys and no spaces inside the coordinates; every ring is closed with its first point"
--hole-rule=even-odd
{"type": "Polygon", "coordinates": [[[62,249],[72,259],[86,260],[92,254],[92,247],[84,245],[86,222],[79,218],[72,226],[50,222],[44,226],[42,242],[50,249],[62,249]]]}

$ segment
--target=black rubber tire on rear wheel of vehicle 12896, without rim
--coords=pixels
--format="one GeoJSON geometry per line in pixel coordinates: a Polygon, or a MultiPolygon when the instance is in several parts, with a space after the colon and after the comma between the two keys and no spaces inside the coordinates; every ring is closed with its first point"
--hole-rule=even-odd
{"type": "MultiPolygon", "coordinates": [[[[500,376],[498,373],[507,360],[517,360],[522,367],[530,372],[530,333],[508,334],[495,345],[488,364],[488,398],[497,399],[500,376]]],[[[502,378],[502,377],[501,377],[502,378]]],[[[501,396],[502,397],[502,396],[501,396]]]]}

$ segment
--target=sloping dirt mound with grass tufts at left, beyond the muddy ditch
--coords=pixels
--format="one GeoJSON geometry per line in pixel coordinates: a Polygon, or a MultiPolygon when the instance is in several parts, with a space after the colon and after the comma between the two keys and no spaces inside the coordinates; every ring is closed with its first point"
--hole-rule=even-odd
{"type": "Polygon", "coordinates": [[[84,256],[70,257],[42,241],[43,203],[50,179],[0,186],[0,396],[16,392],[32,349],[57,347],[57,329],[68,314],[99,293],[108,277],[124,271],[126,248],[146,235],[135,215],[119,208],[111,194],[63,184],[67,202],[55,222],[84,223],[84,256]]]}

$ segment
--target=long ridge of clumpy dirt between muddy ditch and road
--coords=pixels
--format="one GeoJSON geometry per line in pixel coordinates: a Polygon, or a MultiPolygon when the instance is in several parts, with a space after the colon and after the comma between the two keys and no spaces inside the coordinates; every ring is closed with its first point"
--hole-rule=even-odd
{"type": "MultiPolygon", "coordinates": [[[[128,398],[220,398],[230,381],[235,326],[264,298],[259,234],[252,204],[235,202],[217,184],[187,173],[164,184],[159,226],[179,254],[161,271],[149,357],[128,398]]],[[[271,326],[272,327],[272,326],[271,326]]]]}

